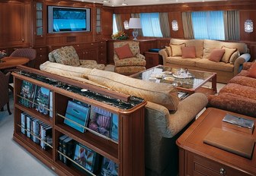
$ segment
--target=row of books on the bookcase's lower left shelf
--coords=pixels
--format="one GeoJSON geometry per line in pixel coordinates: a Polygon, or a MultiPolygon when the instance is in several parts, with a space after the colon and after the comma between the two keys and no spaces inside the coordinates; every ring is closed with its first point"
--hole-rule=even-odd
{"type": "Polygon", "coordinates": [[[42,149],[50,149],[50,146],[53,145],[53,127],[26,112],[21,112],[21,133],[27,135],[34,143],[39,144],[42,149]]]}

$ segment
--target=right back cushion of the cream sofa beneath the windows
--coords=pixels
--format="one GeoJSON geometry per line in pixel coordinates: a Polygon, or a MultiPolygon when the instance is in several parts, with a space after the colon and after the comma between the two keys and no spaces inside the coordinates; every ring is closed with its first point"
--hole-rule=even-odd
{"type": "Polygon", "coordinates": [[[203,42],[203,58],[209,58],[213,49],[221,49],[222,46],[237,49],[240,54],[248,53],[248,46],[244,42],[222,42],[218,40],[205,39],[203,42]]]}

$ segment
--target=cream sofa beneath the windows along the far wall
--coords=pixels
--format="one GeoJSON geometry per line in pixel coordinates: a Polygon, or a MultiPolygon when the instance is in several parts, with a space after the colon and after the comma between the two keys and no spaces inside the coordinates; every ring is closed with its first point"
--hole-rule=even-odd
{"type": "MultiPolygon", "coordinates": [[[[184,43],[185,46],[195,46],[196,58],[181,58],[181,55],[172,56],[168,47],[159,51],[162,55],[163,64],[173,68],[188,68],[200,71],[210,71],[217,73],[217,82],[228,83],[229,80],[242,70],[242,64],[249,61],[251,55],[248,53],[248,46],[242,42],[221,42],[210,39],[171,39],[170,45],[184,43]],[[222,46],[235,48],[239,52],[239,57],[235,54],[228,63],[224,61],[210,61],[210,54],[213,49],[221,49],[222,46]]],[[[175,51],[174,51],[175,52],[175,51]]]]}

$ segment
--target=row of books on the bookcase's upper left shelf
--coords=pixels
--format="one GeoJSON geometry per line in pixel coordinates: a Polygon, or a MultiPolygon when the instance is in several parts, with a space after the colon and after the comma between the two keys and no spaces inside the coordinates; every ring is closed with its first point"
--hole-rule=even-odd
{"type": "Polygon", "coordinates": [[[19,102],[28,108],[35,108],[43,115],[53,118],[53,92],[43,86],[37,86],[26,80],[21,84],[21,98],[19,102]]]}

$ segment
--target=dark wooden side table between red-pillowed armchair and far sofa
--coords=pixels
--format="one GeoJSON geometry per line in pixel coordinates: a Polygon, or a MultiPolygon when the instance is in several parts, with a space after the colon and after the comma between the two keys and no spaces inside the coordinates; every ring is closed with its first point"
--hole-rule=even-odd
{"type": "Polygon", "coordinates": [[[162,56],[158,52],[144,52],[146,57],[146,69],[162,64],[162,56]]]}

